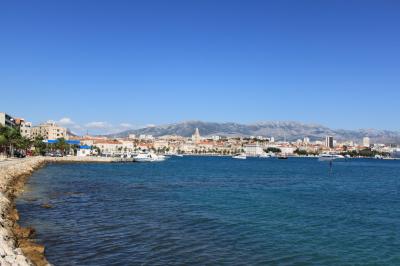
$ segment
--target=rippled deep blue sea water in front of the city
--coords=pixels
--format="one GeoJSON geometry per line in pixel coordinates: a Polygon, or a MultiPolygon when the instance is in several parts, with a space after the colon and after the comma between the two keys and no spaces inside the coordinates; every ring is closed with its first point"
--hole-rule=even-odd
{"type": "Polygon", "coordinates": [[[17,208],[55,265],[400,265],[400,161],[53,164],[17,208]]]}

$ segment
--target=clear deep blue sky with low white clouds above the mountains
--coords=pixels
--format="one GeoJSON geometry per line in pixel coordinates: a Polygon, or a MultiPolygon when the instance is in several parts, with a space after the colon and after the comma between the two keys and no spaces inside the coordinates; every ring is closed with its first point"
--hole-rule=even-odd
{"type": "Polygon", "coordinates": [[[399,1],[2,1],[0,111],[400,130],[399,1]]]}

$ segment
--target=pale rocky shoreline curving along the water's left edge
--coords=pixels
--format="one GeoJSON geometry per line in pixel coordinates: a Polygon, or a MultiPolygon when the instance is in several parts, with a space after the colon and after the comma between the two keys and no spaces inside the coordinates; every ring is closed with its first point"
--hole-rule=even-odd
{"type": "Polygon", "coordinates": [[[23,191],[28,177],[46,163],[107,163],[115,158],[97,157],[30,157],[0,162],[0,265],[51,265],[45,258],[45,247],[35,243],[35,230],[18,225],[15,198],[23,191]]]}

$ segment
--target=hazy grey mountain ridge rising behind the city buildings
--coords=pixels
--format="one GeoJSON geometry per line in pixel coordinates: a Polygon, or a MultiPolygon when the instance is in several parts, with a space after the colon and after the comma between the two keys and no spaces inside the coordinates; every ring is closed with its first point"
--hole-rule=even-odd
{"type": "Polygon", "coordinates": [[[311,140],[323,140],[331,135],[338,140],[353,140],[360,143],[363,137],[370,137],[375,143],[400,143],[400,132],[377,129],[343,130],[331,129],[322,125],[304,124],[292,121],[260,122],[255,124],[214,123],[202,121],[187,121],[182,123],[152,126],[141,129],[123,131],[108,137],[127,137],[129,134],[179,135],[190,137],[195,129],[200,130],[202,136],[265,136],[275,137],[276,140],[286,137],[293,141],[309,137],[311,140]]]}

